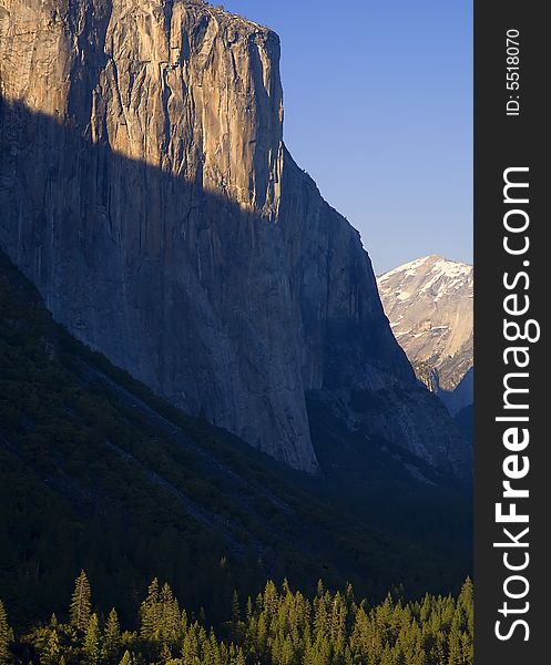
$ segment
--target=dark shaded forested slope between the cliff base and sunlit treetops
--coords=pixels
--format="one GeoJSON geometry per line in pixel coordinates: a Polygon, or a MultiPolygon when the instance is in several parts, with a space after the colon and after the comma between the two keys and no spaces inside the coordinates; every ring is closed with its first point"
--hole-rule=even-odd
{"type": "Polygon", "coordinates": [[[159,575],[213,620],[267,576],[376,600],[470,571],[468,487],[350,437],[315,396],[324,475],[293,471],[84,347],[1,254],[0,368],[0,596],[17,623],[62,611],[82,566],[104,612],[133,616],[159,575]]]}

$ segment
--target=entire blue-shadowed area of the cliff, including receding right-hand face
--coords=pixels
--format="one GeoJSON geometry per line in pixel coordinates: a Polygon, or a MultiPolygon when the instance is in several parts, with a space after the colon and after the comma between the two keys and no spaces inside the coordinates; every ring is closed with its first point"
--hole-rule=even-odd
{"type": "Polygon", "coordinates": [[[80,340],[310,473],[305,392],[344,403],[343,390],[389,390],[368,433],[465,473],[469,453],[417,386],[357,232],[287,153],[280,209],[263,217],[205,191],[201,168],[191,182],[121,155],[73,117],[3,101],[0,129],[0,244],[80,340]]]}

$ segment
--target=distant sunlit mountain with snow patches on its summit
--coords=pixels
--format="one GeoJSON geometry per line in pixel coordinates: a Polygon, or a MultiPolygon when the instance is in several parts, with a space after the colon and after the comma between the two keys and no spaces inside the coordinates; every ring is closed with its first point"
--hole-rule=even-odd
{"type": "Polygon", "coordinates": [[[472,266],[426,256],[380,275],[377,282],[395,337],[418,378],[440,393],[452,412],[470,403],[472,266]],[[455,405],[449,393],[460,383],[461,405],[455,405]]]}

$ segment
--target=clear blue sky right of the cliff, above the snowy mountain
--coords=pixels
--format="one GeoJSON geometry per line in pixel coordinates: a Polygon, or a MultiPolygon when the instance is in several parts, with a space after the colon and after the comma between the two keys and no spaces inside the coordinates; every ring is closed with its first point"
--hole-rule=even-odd
{"type": "Polygon", "coordinates": [[[472,1],[225,0],[282,39],[285,142],[377,273],[472,262],[472,1]]]}

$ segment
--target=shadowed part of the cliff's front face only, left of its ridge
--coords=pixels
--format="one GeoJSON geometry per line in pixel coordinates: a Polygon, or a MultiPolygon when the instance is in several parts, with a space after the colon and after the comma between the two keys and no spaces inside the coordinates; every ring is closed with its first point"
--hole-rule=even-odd
{"type": "Polygon", "coordinates": [[[2,246],[71,332],[190,413],[316,469],[277,225],[7,102],[0,202],[2,246]]]}

